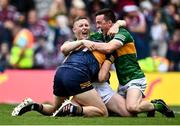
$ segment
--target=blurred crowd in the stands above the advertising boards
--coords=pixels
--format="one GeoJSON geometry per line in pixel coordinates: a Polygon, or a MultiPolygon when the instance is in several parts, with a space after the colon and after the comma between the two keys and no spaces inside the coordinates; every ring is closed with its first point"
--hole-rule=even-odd
{"type": "Polygon", "coordinates": [[[102,8],[126,20],[144,67],[158,59],[180,71],[179,0],[0,0],[0,71],[55,69],[64,59],[59,47],[74,39],[73,20],[88,16],[93,32],[102,8]]]}

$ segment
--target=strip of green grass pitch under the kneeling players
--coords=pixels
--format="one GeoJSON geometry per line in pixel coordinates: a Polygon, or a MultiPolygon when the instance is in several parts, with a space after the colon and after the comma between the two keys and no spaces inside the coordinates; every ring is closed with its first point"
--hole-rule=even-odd
{"type": "Polygon", "coordinates": [[[13,105],[0,104],[0,125],[180,125],[180,106],[171,106],[176,111],[175,118],[166,118],[160,113],[156,117],[147,118],[145,114],[138,117],[47,117],[37,112],[29,112],[23,116],[12,117],[13,105]]]}

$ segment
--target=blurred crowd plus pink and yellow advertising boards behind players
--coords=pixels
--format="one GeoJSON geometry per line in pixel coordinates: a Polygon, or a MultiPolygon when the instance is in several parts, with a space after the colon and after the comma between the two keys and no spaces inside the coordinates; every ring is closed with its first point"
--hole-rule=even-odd
{"type": "MultiPolygon", "coordinates": [[[[0,0],[0,103],[25,97],[50,102],[54,71],[64,59],[59,47],[74,39],[73,19],[88,16],[95,31],[93,14],[109,7],[128,22],[148,79],[147,99],[180,105],[179,5],[178,0],[0,0]]],[[[114,72],[112,67],[116,90],[114,72]]]]}

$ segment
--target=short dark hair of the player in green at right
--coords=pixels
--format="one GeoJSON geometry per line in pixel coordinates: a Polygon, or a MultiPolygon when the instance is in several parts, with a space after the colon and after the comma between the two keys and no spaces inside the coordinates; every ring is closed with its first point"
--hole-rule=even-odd
{"type": "Polygon", "coordinates": [[[95,16],[102,15],[102,14],[104,15],[105,21],[111,20],[113,23],[116,22],[116,16],[111,9],[109,8],[101,9],[96,12],[95,16]]]}

